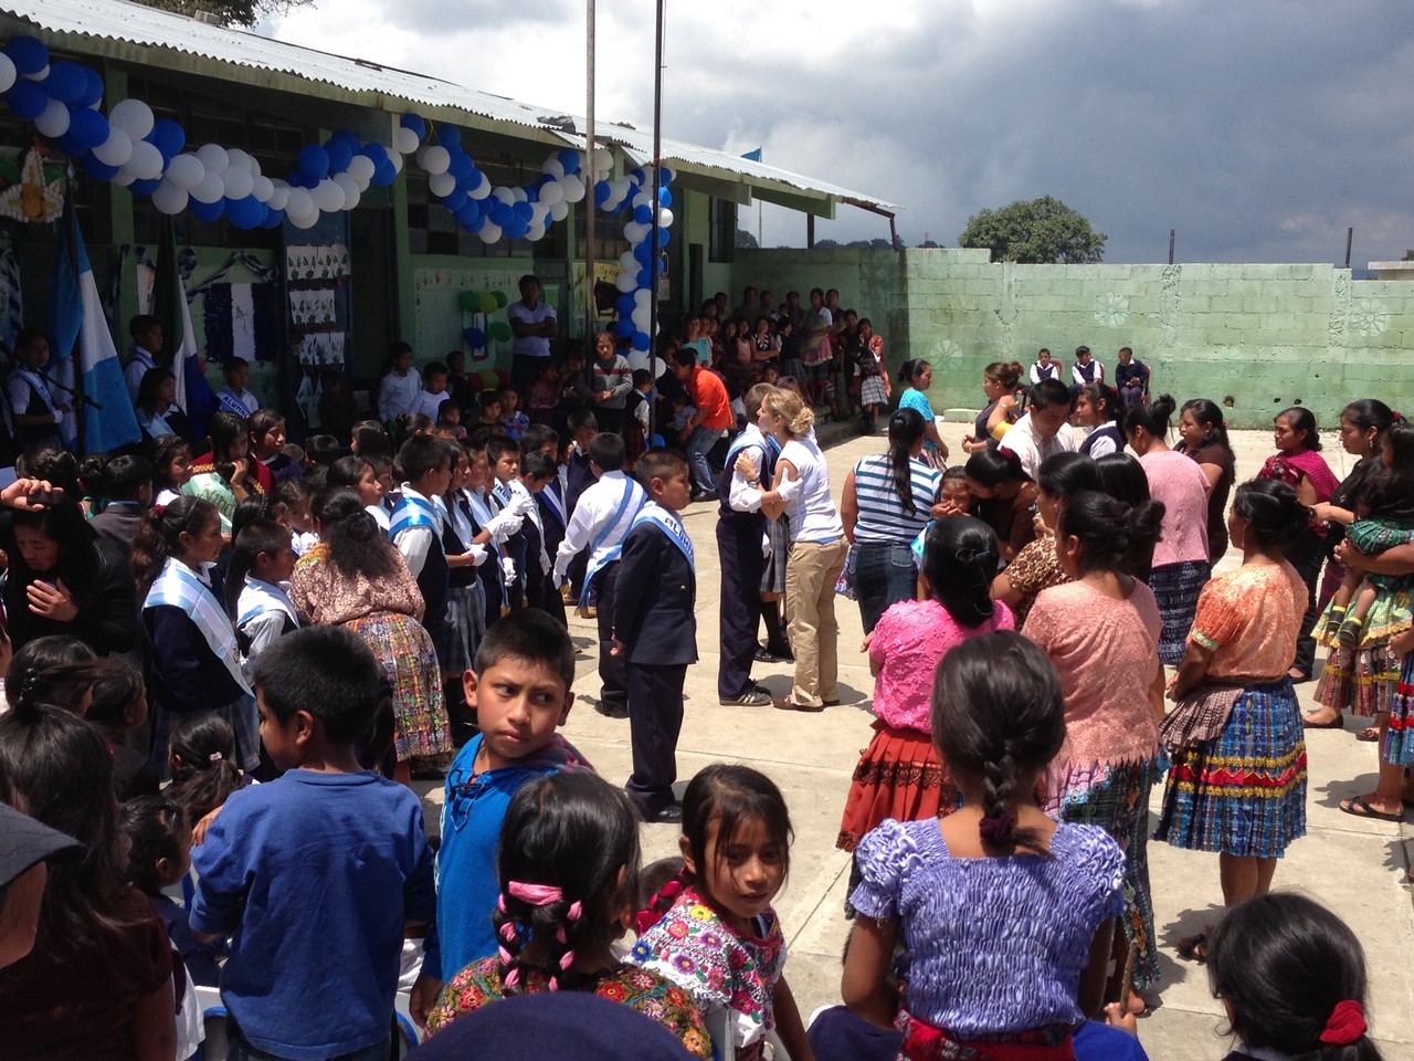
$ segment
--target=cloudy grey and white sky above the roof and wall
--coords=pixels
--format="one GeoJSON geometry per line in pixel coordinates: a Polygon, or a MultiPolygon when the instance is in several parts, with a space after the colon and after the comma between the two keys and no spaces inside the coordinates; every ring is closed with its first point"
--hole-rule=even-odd
{"type": "MultiPolygon", "coordinates": [[[[653,10],[598,3],[601,120],[652,124],[653,10]]],[[[262,33],[583,115],[584,25],[585,0],[320,0],[262,33]]],[[[896,202],[909,245],[1055,195],[1107,262],[1164,260],[1171,228],[1179,262],[1340,263],[1349,225],[1356,266],[1414,248],[1407,0],[667,0],[665,52],[666,136],[896,202]]],[[[766,246],[803,240],[766,208],[766,246]]]]}

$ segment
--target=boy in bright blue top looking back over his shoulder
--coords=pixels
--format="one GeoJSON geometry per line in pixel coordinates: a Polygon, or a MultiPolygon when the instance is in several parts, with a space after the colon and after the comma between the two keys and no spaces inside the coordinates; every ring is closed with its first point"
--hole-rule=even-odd
{"type": "Polygon", "coordinates": [[[570,631],[537,608],[512,611],[486,630],[462,678],[481,734],[447,772],[437,850],[437,918],[413,985],[413,1020],[426,1023],[443,982],[496,953],[492,911],[501,895],[496,845],[510,798],[561,770],[591,770],[556,730],[574,703],[570,631]]]}

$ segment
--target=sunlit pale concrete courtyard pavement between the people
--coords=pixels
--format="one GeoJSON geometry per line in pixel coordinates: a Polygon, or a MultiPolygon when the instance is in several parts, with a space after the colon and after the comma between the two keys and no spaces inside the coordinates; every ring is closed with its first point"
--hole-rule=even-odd
{"type": "MultiPolygon", "coordinates": [[[[949,416],[949,422],[953,419],[949,416]]],[[[949,446],[954,446],[956,436],[964,430],[962,417],[956,419],[959,423],[947,423],[943,430],[949,446]]],[[[829,446],[829,427],[822,430],[822,437],[829,446]]],[[[1350,458],[1339,453],[1333,431],[1326,431],[1326,457],[1336,474],[1343,475],[1350,458]]],[[[1271,453],[1271,436],[1234,433],[1233,447],[1241,481],[1271,453]]],[[[882,448],[881,436],[847,437],[829,446],[836,497],[854,461],[882,448]]],[[[679,794],[699,768],[721,760],[756,767],[785,794],[796,839],[790,876],[775,905],[790,948],[786,978],[800,1011],[810,1014],[817,1006],[839,1002],[840,955],[848,932],[844,898],[850,860],[836,849],[834,837],[850,774],[870,741],[872,680],[867,658],[857,651],[863,639],[858,607],[839,598],[839,706],[819,714],[718,706],[715,512],[715,504],[693,505],[684,519],[697,543],[700,662],[687,672],[686,717],[677,747],[679,794]]],[[[1239,559],[1229,555],[1223,569],[1239,559]]],[[[577,697],[564,733],[600,774],[622,782],[631,767],[628,721],[594,712],[598,678],[592,621],[571,615],[570,632],[578,648],[577,697]]],[[[789,665],[758,663],[754,673],[778,696],[790,688],[789,665]]],[[[1298,688],[1302,706],[1309,709],[1315,685],[1298,688]]],[[[1374,785],[1374,746],[1356,741],[1356,729],[1355,720],[1346,716],[1343,731],[1308,731],[1308,835],[1290,849],[1277,870],[1275,887],[1307,894],[1350,924],[1365,945],[1369,963],[1372,1033],[1386,1057],[1414,1057],[1414,908],[1406,876],[1408,842],[1414,833],[1408,825],[1359,821],[1340,813],[1342,798],[1372,791],[1374,785]]],[[[436,804],[441,792],[427,788],[433,789],[427,792],[428,826],[436,829],[436,804]]],[[[1159,791],[1155,789],[1154,821],[1158,806],[1159,791]]],[[[645,863],[676,854],[677,836],[670,825],[645,825],[645,863]]],[[[1158,1004],[1151,1016],[1140,1020],[1140,1040],[1155,1061],[1220,1058],[1230,1048],[1220,1034],[1225,1028],[1222,1006],[1208,990],[1206,970],[1182,961],[1175,951],[1181,937],[1200,929],[1220,912],[1217,857],[1151,843],[1150,871],[1162,970],[1158,1004]]],[[[1319,970],[1312,973],[1319,975],[1319,970]]]]}

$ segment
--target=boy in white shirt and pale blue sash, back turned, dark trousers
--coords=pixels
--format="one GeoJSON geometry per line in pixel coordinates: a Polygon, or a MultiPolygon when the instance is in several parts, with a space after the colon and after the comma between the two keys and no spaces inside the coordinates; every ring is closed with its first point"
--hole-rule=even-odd
{"type": "Polygon", "coordinates": [[[648,501],[643,488],[628,478],[624,468],[624,439],[600,433],[590,443],[590,468],[598,477],[580,497],[580,504],[564,529],[564,540],[556,550],[554,584],[563,586],[570,562],[577,553],[588,552],[584,573],[583,605],[590,590],[598,598],[600,634],[600,702],[594,710],[611,719],[628,717],[628,675],[624,659],[614,648],[614,590],[618,581],[618,559],[624,536],[633,516],[648,501]]]}

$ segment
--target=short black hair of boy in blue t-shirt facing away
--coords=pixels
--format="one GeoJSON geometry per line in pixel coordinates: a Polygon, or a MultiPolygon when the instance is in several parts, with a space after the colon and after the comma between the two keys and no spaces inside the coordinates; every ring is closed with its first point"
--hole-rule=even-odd
{"type": "Polygon", "coordinates": [[[279,638],[256,661],[252,685],[280,721],[308,712],[331,744],[355,744],[378,717],[383,669],[345,627],[304,627],[279,638]]]}

